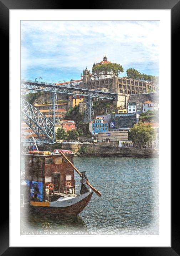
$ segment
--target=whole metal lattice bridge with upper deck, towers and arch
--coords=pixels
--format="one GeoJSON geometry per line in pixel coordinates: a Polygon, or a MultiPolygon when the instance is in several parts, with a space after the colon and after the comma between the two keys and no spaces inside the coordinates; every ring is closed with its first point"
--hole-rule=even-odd
{"type": "Polygon", "coordinates": [[[79,95],[86,98],[86,110],[84,114],[84,122],[91,122],[94,120],[93,100],[92,98],[116,100],[116,93],[101,92],[98,90],[87,90],[74,87],[66,87],[61,85],[55,85],[51,83],[36,82],[30,80],[21,80],[21,89],[23,90],[35,90],[51,93],[52,106],[50,105],[49,118],[43,115],[34,106],[21,99],[21,113],[22,118],[32,131],[37,134],[40,141],[55,142],[55,124],[58,122],[57,108],[57,93],[79,95]],[[51,112],[52,111],[52,112],[51,112]],[[51,115],[52,113],[52,115],[51,115]]]}

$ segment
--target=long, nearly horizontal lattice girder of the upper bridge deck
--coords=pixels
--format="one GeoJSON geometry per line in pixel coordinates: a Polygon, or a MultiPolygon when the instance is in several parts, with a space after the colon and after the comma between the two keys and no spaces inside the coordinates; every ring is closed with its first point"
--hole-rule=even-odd
{"type": "Polygon", "coordinates": [[[117,93],[106,93],[101,91],[95,90],[86,90],[80,88],[73,88],[73,87],[65,87],[60,85],[51,85],[48,83],[37,83],[28,80],[21,80],[21,89],[29,89],[29,90],[36,90],[36,91],[44,91],[44,92],[54,92],[54,93],[63,93],[63,94],[70,94],[70,95],[81,95],[85,97],[94,97],[94,98],[101,98],[101,99],[117,99],[117,93]]]}

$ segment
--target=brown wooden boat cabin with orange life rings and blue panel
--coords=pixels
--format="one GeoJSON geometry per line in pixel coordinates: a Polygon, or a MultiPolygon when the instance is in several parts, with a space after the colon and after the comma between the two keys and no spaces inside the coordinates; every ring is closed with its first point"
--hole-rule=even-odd
{"type": "MultiPolygon", "coordinates": [[[[73,164],[73,153],[63,153],[73,164]]],[[[28,186],[26,201],[56,201],[60,197],[77,196],[73,167],[59,152],[28,152],[21,157],[24,163],[21,178],[28,186]]]]}

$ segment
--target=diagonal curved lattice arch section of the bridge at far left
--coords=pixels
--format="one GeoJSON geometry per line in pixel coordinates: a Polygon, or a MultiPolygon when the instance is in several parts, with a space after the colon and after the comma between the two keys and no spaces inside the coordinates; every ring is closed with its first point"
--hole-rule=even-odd
{"type": "Polygon", "coordinates": [[[37,108],[21,98],[21,118],[41,140],[55,142],[55,124],[37,108]]]}

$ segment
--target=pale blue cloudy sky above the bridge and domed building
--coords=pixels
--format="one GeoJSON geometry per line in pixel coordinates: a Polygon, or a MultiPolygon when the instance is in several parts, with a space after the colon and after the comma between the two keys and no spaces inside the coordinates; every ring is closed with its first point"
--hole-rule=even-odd
{"type": "Polygon", "coordinates": [[[105,54],[119,77],[159,75],[159,21],[21,21],[21,79],[78,80],[105,54]]]}

